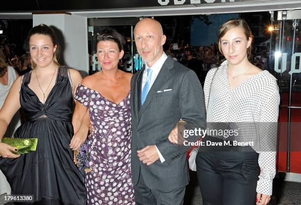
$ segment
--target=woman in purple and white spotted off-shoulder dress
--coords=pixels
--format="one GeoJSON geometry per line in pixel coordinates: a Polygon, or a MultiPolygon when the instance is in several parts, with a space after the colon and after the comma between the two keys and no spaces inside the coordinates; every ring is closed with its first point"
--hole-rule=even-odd
{"type": "Polygon", "coordinates": [[[130,166],[132,74],[118,69],[123,45],[124,39],[117,31],[101,31],[97,37],[101,71],[85,77],[74,97],[75,135],[70,148],[80,148],[79,155],[89,154],[85,163],[89,167],[85,181],[88,205],[135,204],[130,166]],[[88,145],[80,147],[87,138],[89,124],[94,133],[89,135],[88,145]]]}

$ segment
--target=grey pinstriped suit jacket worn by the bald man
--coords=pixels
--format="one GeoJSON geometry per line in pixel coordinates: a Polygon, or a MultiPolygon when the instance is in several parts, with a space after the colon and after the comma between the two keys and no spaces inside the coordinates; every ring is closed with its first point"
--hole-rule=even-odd
{"type": "Polygon", "coordinates": [[[168,140],[180,119],[186,129],[206,127],[204,93],[196,74],[168,57],[141,105],[141,82],[144,68],[131,79],[132,110],[131,169],[133,182],[142,175],[151,189],[171,190],[188,184],[186,152],[168,140]],[[172,89],[171,91],[164,91],[172,89]],[[150,166],[143,164],[137,150],[156,145],[165,158],[150,166]]]}

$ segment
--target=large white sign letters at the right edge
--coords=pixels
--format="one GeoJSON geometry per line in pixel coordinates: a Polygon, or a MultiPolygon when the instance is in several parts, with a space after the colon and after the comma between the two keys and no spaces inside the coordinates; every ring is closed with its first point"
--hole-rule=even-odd
{"type": "MultiPolygon", "coordinates": [[[[282,66],[280,69],[279,68],[279,59],[281,59],[281,54],[277,53],[275,54],[275,64],[274,64],[274,69],[277,73],[283,73],[284,71],[286,71],[286,63],[287,63],[287,54],[286,52],[282,53],[282,66]]],[[[299,59],[301,59],[301,52],[295,52],[292,55],[291,58],[291,71],[288,72],[290,75],[294,74],[294,73],[301,73],[301,62],[299,60],[299,69],[296,69],[296,59],[297,57],[299,57],[299,59]]]]}

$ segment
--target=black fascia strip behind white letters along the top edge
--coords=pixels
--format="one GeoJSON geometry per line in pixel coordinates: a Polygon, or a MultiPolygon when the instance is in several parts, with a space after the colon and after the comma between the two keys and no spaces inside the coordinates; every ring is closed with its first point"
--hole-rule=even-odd
{"type": "MultiPolygon", "coordinates": [[[[181,5],[198,5],[215,3],[234,3],[236,5],[243,2],[258,2],[261,0],[23,0],[5,1],[1,5],[1,12],[17,11],[88,11],[88,10],[104,10],[104,9],[125,9],[125,8],[148,8],[157,6],[181,6],[181,5]]],[[[265,0],[273,2],[274,0],[265,0]]],[[[283,0],[282,0],[283,1],[283,0]]],[[[284,4],[284,2],[280,2],[284,4]]]]}

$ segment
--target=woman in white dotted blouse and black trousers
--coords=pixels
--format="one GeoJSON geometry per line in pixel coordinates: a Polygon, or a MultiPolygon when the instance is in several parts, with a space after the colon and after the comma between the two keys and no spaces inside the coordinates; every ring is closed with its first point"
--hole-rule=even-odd
{"type": "MultiPolygon", "coordinates": [[[[244,20],[229,20],[221,26],[218,46],[227,60],[219,68],[211,69],[205,80],[209,124],[277,122],[279,91],[276,79],[248,61],[252,40],[251,30],[244,20]]],[[[267,135],[270,139],[276,138],[276,132],[267,135]]],[[[239,147],[242,152],[205,150],[197,154],[197,175],[204,205],[269,203],[276,153],[265,149],[255,149],[255,152],[252,148],[239,147]]],[[[200,147],[200,151],[202,149],[205,148],[200,147]]]]}

